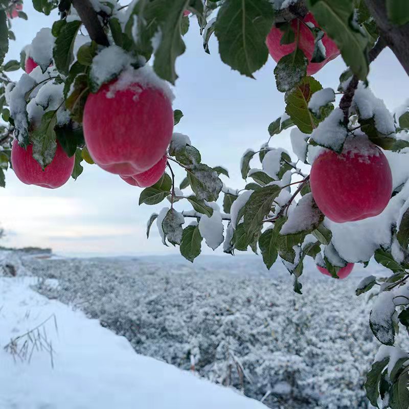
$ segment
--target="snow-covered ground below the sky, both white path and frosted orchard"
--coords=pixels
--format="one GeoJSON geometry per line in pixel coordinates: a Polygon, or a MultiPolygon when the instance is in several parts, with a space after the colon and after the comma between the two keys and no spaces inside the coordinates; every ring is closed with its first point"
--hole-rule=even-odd
{"type": "Polygon", "coordinates": [[[378,343],[371,302],[355,288],[385,271],[357,265],[336,281],[307,264],[300,296],[280,263],[268,272],[257,257],[198,261],[6,254],[17,277],[0,280],[0,345],[52,314],[58,333],[53,317],[54,370],[47,350],[30,364],[1,351],[0,408],[265,407],[240,393],[277,409],[370,407],[360,368],[378,343]]]}

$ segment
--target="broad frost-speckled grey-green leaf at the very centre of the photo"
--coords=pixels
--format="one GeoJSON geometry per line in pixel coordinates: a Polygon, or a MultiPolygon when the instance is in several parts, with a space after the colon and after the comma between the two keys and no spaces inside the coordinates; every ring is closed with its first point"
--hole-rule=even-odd
{"type": "Polygon", "coordinates": [[[217,172],[205,164],[192,165],[187,171],[190,186],[196,197],[216,201],[223,186],[217,172]]]}

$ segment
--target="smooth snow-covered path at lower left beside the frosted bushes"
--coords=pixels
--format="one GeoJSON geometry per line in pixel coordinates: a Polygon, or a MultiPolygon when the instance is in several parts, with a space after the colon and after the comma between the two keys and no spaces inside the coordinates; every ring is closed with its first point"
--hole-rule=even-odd
{"type": "MultiPolygon", "coordinates": [[[[80,311],[29,288],[34,278],[0,278],[0,409],[263,409],[167,363],[136,354],[128,341],[80,311]],[[51,354],[34,348],[30,363],[4,346],[55,314],[40,333],[51,354]]],[[[24,345],[27,337],[17,343],[24,345]]],[[[28,355],[32,343],[28,342],[28,355]]]]}

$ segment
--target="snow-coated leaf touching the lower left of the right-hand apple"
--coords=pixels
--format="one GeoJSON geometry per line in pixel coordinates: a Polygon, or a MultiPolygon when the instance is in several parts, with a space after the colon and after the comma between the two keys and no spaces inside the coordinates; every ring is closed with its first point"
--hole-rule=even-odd
{"type": "Polygon", "coordinates": [[[290,213],[284,223],[281,234],[311,233],[317,229],[324,215],[315,203],[312,193],[303,196],[297,203],[296,208],[290,213]]]}

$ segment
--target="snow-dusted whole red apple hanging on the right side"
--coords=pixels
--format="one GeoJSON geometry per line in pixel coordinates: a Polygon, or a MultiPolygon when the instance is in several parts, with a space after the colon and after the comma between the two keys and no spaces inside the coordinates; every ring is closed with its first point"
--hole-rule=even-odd
{"type": "Polygon", "coordinates": [[[377,216],[392,194],[392,172],[383,152],[365,135],[347,138],[342,153],[325,150],[312,163],[311,192],[337,223],[377,216]]]}

